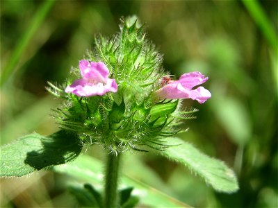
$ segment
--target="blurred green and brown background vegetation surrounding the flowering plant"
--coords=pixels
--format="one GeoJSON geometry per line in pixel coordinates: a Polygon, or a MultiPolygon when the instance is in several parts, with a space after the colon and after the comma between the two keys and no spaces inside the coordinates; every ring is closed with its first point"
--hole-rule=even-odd
{"type": "MultiPolygon", "coordinates": [[[[277,1],[1,0],[1,145],[58,130],[49,115],[60,101],[47,81],[62,83],[96,33],[113,35],[120,17],[137,15],[167,71],[209,77],[212,98],[184,101],[199,112],[179,137],[234,168],[240,190],[216,193],[156,155],[127,155],[123,171],[193,207],[278,207],[277,8],[277,1]]],[[[86,154],[103,159],[97,147],[86,154]]],[[[66,180],[47,171],[2,179],[0,207],[76,207],[66,180]]]]}

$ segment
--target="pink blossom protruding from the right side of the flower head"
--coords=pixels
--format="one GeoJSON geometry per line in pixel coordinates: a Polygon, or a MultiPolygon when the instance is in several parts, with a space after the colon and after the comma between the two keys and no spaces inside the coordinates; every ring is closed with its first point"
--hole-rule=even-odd
{"type": "MultiPolygon", "coordinates": [[[[163,80],[165,82],[165,79],[163,80]]],[[[177,81],[167,79],[166,85],[158,89],[156,95],[159,98],[167,99],[190,98],[202,104],[211,97],[211,92],[204,87],[197,87],[196,89],[193,89],[193,87],[205,83],[206,80],[208,80],[208,78],[205,78],[204,75],[198,71],[183,73],[177,81]]]]}

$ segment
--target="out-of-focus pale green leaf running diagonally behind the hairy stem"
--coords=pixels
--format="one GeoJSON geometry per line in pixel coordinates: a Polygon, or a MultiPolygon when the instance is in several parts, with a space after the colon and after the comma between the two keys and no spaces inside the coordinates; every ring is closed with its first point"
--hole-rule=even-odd
{"type": "MultiPolygon", "coordinates": [[[[77,180],[90,182],[95,186],[103,186],[103,165],[98,159],[93,157],[80,155],[74,162],[62,166],[54,166],[54,171],[71,175],[77,180]]],[[[141,205],[148,205],[149,207],[189,207],[183,202],[167,196],[165,193],[127,175],[122,175],[120,187],[122,189],[134,187],[132,196],[140,198],[141,205]]],[[[131,200],[136,201],[136,198],[131,200]]],[[[129,207],[127,204],[126,207],[129,207]]]]}

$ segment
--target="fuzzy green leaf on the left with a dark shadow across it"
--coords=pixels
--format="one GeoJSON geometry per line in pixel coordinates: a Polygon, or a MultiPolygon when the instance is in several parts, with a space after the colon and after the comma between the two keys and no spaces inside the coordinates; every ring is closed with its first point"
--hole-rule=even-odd
{"type": "Polygon", "coordinates": [[[22,176],[47,166],[65,164],[80,152],[77,137],[64,131],[49,136],[26,135],[1,146],[0,176],[22,176]]]}

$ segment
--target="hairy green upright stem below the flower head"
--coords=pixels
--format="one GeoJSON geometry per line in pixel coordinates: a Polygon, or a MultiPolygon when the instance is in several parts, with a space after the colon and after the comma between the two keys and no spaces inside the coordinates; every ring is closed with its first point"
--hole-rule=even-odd
{"type": "Polygon", "coordinates": [[[119,173],[120,154],[109,154],[106,162],[105,200],[106,208],[117,207],[117,177],[119,173]]]}

